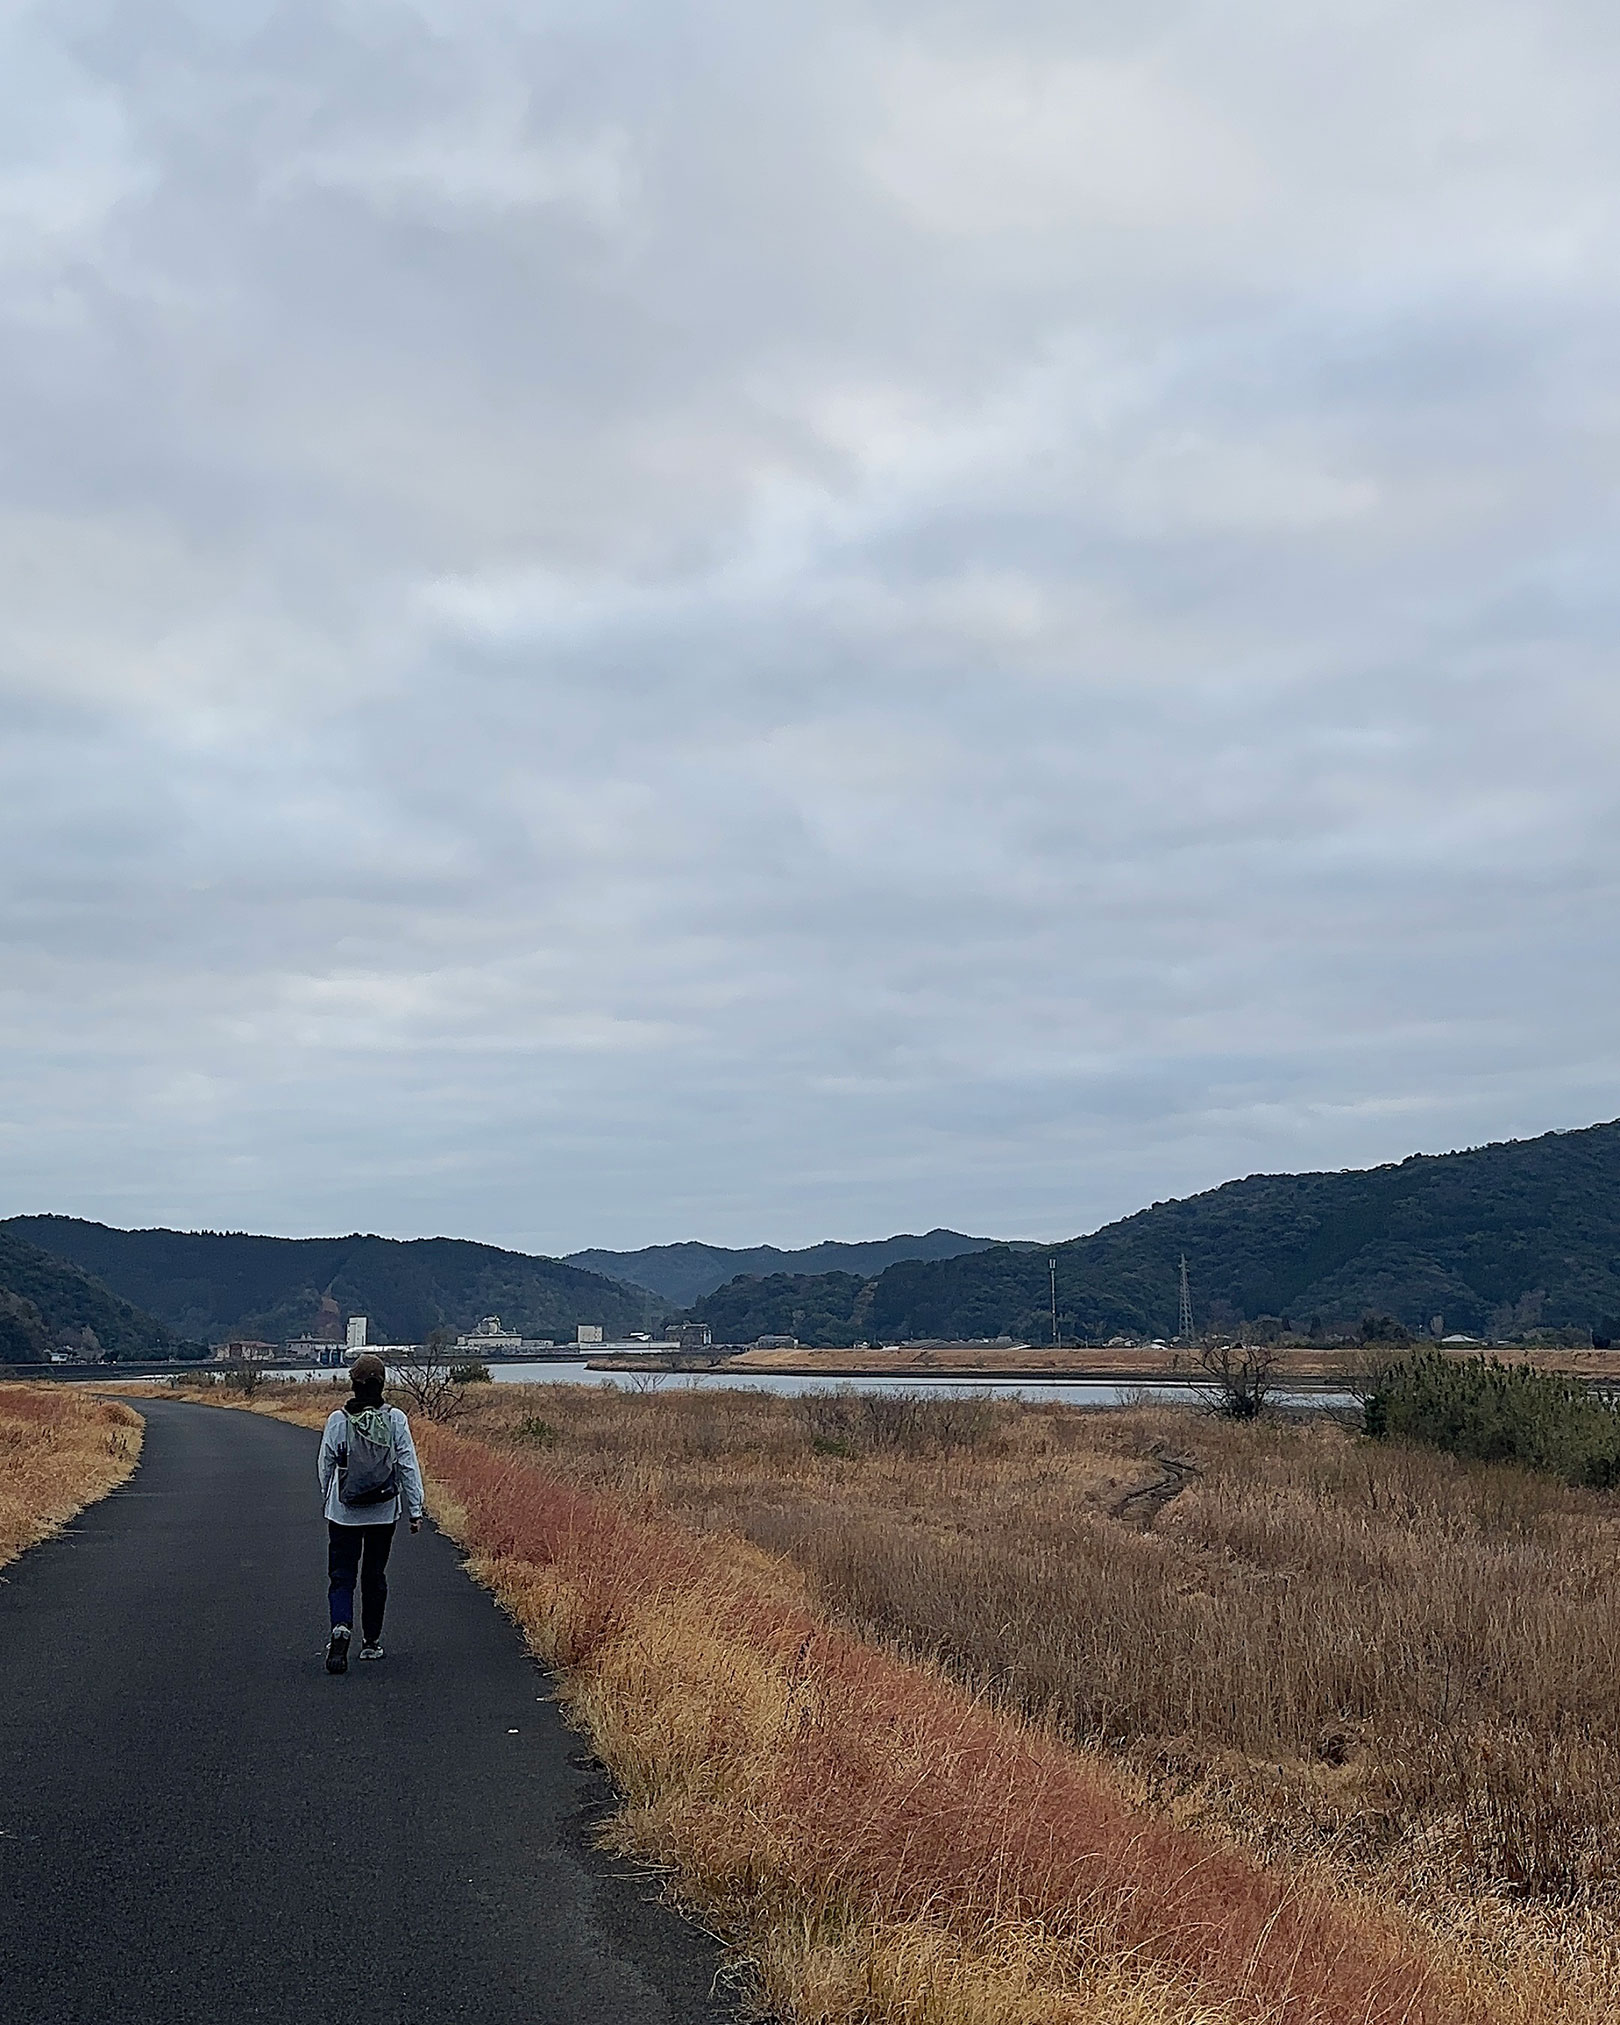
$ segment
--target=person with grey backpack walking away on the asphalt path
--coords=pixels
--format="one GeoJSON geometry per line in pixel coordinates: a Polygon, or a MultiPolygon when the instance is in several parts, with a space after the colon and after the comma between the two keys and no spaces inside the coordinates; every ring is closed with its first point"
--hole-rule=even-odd
{"type": "Polygon", "coordinates": [[[348,1379],[354,1397],[328,1415],[320,1438],[320,1494],[326,1501],[326,1596],[332,1638],[326,1671],[348,1673],[354,1636],[354,1582],[360,1586],[360,1658],[383,1656],[383,1612],[389,1604],[389,1549],[401,1509],[421,1531],[421,1464],[411,1424],[397,1405],[383,1405],[389,1367],[367,1351],[348,1379]]]}

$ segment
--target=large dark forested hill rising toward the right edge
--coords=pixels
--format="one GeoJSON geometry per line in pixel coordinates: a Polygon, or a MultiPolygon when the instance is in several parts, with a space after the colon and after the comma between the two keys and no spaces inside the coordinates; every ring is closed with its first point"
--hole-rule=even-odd
{"type": "MultiPolygon", "coordinates": [[[[1620,1124],[1397,1166],[1251,1174],[1039,1251],[901,1262],[857,1290],[840,1276],[800,1278],[770,1312],[751,1300],[747,1320],[757,1334],[800,1334],[798,1310],[822,1343],[1045,1343],[1055,1258],[1063,1336],[1168,1336],[1183,1253],[1201,1326],[1286,1316],[1343,1330],[1371,1312],[1409,1328],[1442,1316],[1468,1334],[1608,1322],[1606,1334],[1620,1332],[1620,1124]]],[[[721,1334],[731,1304],[723,1288],[695,1314],[721,1334]]]]}

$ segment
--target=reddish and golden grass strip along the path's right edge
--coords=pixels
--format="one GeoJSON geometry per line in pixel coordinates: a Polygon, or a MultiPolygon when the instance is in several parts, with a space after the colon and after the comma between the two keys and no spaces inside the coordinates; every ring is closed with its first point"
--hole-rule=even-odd
{"type": "Polygon", "coordinates": [[[620,1845],[743,1942],[778,2011],[1488,2017],[1387,1912],[1144,1808],[1098,1758],[830,1626],[778,1565],[486,1440],[429,1430],[425,1458],[478,1571],[561,1669],[626,1798],[620,1845]],[[895,1950],[934,1964],[923,1984],[895,1950]]]}

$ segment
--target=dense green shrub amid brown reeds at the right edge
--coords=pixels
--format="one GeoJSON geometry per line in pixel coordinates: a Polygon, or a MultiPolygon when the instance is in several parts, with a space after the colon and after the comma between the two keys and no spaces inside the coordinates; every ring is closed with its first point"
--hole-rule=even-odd
{"type": "Polygon", "coordinates": [[[1470,1462],[1519,1462],[1567,1484],[1620,1484],[1620,1409],[1580,1379],[1418,1351],[1385,1365],[1365,1391],[1375,1440],[1420,1442],[1470,1462]]]}

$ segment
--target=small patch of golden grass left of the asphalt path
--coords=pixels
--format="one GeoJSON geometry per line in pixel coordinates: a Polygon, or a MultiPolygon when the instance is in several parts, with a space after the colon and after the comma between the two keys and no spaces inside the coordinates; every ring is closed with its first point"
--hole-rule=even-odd
{"type": "Polygon", "coordinates": [[[142,1418],[69,1385],[0,1385],[0,1567],[134,1474],[142,1418]]]}

